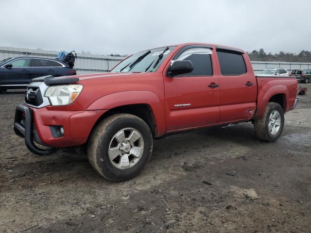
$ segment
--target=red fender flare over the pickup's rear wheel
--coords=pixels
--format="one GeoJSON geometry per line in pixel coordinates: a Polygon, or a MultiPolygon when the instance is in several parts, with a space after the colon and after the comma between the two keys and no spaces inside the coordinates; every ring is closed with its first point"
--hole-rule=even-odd
{"type": "MultiPolygon", "coordinates": [[[[257,102],[258,106],[257,106],[257,111],[255,113],[255,115],[253,116],[253,119],[257,119],[260,116],[263,115],[264,109],[267,106],[269,100],[271,99],[271,97],[273,97],[274,95],[277,94],[284,94],[285,95],[285,111],[288,111],[288,97],[289,97],[289,91],[288,88],[285,85],[276,85],[271,87],[267,92],[263,92],[260,90],[259,95],[258,95],[258,99],[261,101],[257,102]]],[[[283,106],[282,106],[283,107],[283,106]]]]}

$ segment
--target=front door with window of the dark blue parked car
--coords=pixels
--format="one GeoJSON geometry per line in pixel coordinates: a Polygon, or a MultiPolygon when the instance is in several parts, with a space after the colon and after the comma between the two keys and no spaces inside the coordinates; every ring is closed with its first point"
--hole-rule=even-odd
{"type": "Polygon", "coordinates": [[[32,58],[18,58],[10,64],[12,68],[0,67],[0,85],[27,85],[30,83],[30,69],[32,58]]]}

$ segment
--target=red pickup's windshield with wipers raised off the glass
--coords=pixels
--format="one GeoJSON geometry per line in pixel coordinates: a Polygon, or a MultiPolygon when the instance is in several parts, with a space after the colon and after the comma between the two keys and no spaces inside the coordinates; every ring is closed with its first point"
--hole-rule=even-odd
{"type": "Polygon", "coordinates": [[[135,53],[122,61],[118,66],[114,67],[110,72],[154,72],[174,48],[174,46],[163,47],[135,53]],[[162,59],[156,64],[159,55],[164,50],[166,51],[164,52],[162,59]]]}

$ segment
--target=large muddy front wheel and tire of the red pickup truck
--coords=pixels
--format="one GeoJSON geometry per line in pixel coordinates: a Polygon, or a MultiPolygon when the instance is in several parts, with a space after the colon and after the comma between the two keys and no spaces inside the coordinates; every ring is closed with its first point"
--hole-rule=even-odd
{"type": "Polygon", "coordinates": [[[87,155],[91,166],[101,176],[121,182],[138,176],[149,162],[152,146],[152,134],[142,119],[130,114],[115,114],[105,118],[93,130],[87,155]],[[119,155],[113,159],[116,154],[119,155]]]}

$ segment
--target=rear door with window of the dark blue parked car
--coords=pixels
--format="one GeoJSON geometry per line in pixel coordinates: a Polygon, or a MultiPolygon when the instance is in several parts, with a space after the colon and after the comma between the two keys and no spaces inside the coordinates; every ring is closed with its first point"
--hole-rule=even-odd
{"type": "Polygon", "coordinates": [[[52,61],[44,58],[34,58],[31,67],[31,79],[45,75],[57,74],[57,67],[54,67],[52,61]]]}

